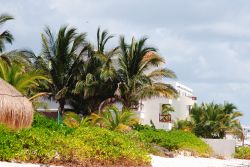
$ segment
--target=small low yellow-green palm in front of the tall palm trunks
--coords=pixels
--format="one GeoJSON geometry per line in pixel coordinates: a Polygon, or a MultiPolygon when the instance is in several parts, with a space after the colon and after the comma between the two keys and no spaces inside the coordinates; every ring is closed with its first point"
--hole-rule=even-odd
{"type": "Polygon", "coordinates": [[[134,112],[128,109],[119,111],[114,105],[104,108],[100,114],[92,113],[90,118],[92,123],[116,131],[128,131],[132,125],[138,123],[134,112]]]}

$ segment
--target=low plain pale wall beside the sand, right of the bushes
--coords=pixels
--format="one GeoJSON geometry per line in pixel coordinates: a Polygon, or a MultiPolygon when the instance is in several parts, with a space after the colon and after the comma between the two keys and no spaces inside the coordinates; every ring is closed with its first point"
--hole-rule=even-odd
{"type": "Polygon", "coordinates": [[[214,151],[214,155],[232,158],[236,141],[232,139],[203,139],[214,151]]]}

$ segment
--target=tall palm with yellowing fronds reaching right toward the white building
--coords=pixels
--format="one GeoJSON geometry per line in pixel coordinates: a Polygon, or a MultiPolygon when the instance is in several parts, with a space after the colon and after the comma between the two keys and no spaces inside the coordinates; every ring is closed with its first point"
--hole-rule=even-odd
{"type": "Polygon", "coordinates": [[[174,98],[177,91],[170,85],[161,82],[161,79],[176,78],[173,71],[159,68],[164,59],[157,54],[154,47],[146,46],[147,38],[131,44],[120,38],[119,54],[119,84],[116,91],[124,107],[136,108],[138,101],[150,97],[164,96],[174,98]]]}

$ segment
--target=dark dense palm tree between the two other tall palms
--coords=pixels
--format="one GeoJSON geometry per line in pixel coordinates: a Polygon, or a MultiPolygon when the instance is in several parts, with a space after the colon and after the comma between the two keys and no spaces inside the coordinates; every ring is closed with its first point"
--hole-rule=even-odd
{"type": "Polygon", "coordinates": [[[97,46],[89,45],[74,90],[74,99],[71,99],[71,105],[78,112],[89,114],[98,110],[103,101],[114,97],[118,80],[112,59],[117,48],[106,51],[106,44],[112,37],[106,30],[98,28],[97,46]]]}

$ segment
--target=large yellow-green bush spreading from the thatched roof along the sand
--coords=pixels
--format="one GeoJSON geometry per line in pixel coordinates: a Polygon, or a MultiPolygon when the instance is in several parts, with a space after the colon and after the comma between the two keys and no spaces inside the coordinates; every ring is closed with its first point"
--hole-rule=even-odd
{"type": "Polygon", "coordinates": [[[30,129],[11,131],[0,127],[2,161],[112,163],[121,159],[135,164],[149,162],[142,143],[99,127],[68,128],[41,115],[35,115],[30,129]]]}

